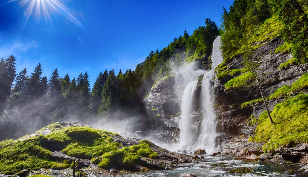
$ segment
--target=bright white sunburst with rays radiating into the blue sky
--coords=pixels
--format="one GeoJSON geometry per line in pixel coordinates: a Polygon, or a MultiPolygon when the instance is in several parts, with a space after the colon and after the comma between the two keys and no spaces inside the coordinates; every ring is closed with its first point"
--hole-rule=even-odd
{"type": "Polygon", "coordinates": [[[20,7],[25,8],[26,14],[26,21],[25,24],[28,22],[29,17],[34,13],[37,18],[41,16],[41,10],[44,14],[46,21],[49,21],[52,24],[52,20],[50,17],[50,13],[57,13],[69,21],[74,23],[80,28],[83,28],[82,23],[74,16],[74,12],[60,3],[58,0],[9,0],[8,2],[11,3],[13,1],[17,1],[20,7]]]}

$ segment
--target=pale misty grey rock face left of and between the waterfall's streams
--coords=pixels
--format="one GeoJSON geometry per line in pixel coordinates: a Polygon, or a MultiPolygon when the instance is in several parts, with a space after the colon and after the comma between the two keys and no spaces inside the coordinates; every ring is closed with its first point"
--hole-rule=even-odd
{"type": "MultiPolygon", "coordinates": [[[[201,121],[200,115],[200,94],[203,75],[198,77],[198,84],[194,90],[194,110],[190,116],[194,117],[192,128],[198,128],[201,121]]],[[[185,85],[175,84],[176,77],[169,76],[158,81],[152,88],[148,96],[143,100],[148,115],[152,117],[154,138],[164,142],[178,142],[179,121],[181,118],[181,98],[185,85]]]]}

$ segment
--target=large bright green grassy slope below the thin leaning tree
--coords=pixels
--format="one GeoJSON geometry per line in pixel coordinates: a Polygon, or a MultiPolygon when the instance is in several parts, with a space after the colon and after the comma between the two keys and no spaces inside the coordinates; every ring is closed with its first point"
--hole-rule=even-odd
{"type": "Polygon", "coordinates": [[[292,147],[296,143],[308,143],[308,95],[301,94],[275,105],[271,113],[271,124],[267,112],[258,121],[255,136],[249,141],[265,143],[264,152],[279,147],[292,147]]]}

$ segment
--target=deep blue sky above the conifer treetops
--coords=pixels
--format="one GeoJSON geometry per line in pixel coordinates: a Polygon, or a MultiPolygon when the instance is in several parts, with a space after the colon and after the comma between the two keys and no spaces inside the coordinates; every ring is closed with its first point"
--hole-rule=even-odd
{"type": "Polygon", "coordinates": [[[184,29],[192,34],[206,18],[219,26],[223,6],[233,3],[57,0],[67,8],[52,11],[47,5],[49,21],[42,8],[40,15],[37,10],[27,13],[30,1],[38,0],[8,1],[0,3],[0,57],[14,55],[17,73],[27,68],[28,75],[39,62],[47,78],[55,68],[60,77],[68,73],[71,79],[87,71],[91,87],[100,71],[135,69],[151,49],[168,46],[184,29]],[[22,1],[29,2],[21,7],[22,1]]]}

